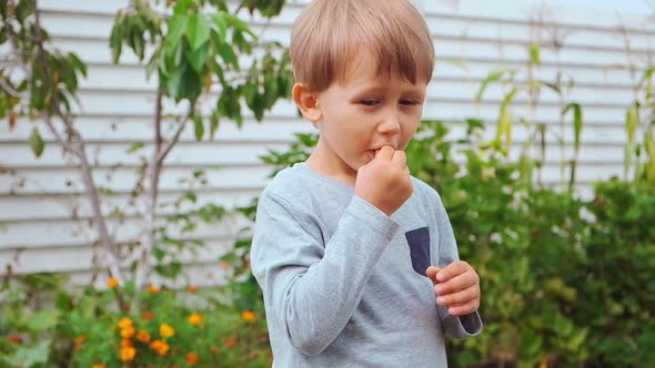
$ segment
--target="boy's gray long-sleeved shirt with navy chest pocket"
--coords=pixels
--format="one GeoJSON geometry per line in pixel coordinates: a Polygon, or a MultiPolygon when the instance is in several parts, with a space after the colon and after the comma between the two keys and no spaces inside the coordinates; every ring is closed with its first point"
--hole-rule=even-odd
{"type": "Polygon", "coordinates": [[[477,313],[435,304],[425,269],[457,248],[439,194],[412,183],[392,216],[306,164],[266,186],[251,262],[275,367],[445,367],[444,335],[480,334],[477,313]]]}

